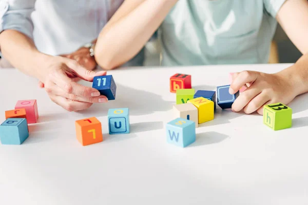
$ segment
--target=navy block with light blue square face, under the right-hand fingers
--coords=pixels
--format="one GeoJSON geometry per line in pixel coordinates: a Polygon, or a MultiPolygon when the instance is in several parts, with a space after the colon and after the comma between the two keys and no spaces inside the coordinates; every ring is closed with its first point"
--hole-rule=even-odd
{"type": "Polygon", "coordinates": [[[221,107],[221,109],[232,108],[232,104],[240,94],[238,91],[237,93],[230,95],[229,88],[230,85],[217,87],[217,105],[221,107]]]}

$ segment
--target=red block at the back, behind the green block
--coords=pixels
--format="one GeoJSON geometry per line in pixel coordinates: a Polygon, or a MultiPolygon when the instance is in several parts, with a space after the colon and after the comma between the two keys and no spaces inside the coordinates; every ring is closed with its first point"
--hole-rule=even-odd
{"type": "Polygon", "coordinates": [[[170,77],[170,92],[176,93],[178,89],[191,88],[191,75],[177,73],[170,77]]]}

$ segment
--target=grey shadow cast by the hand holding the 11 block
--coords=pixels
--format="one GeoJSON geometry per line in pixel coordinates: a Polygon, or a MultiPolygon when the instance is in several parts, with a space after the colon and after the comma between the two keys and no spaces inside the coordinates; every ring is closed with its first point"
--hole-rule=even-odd
{"type": "Polygon", "coordinates": [[[106,116],[108,109],[129,108],[129,115],[139,116],[168,111],[172,109],[173,104],[174,101],[165,101],[160,95],[118,84],[115,100],[110,100],[107,104],[94,104],[89,109],[79,111],[79,113],[106,116]]]}

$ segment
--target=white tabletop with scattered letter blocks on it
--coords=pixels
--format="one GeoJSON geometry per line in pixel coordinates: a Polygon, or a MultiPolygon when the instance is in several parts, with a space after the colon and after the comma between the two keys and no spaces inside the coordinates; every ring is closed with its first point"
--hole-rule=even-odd
{"type": "MultiPolygon", "coordinates": [[[[174,119],[169,77],[192,75],[196,90],[228,84],[228,73],[273,73],[291,64],[128,68],[108,72],[117,96],[81,112],[52,103],[37,80],[0,69],[0,121],[17,100],[37,99],[38,123],[21,146],[0,146],[0,204],[308,204],[308,95],[293,127],[273,131],[262,116],[221,110],[186,148],[167,144],[174,119]],[[109,135],[109,108],[130,109],[130,134],[109,135]],[[104,141],[83,147],[75,120],[97,117],[104,141]]],[[[91,83],[83,84],[91,86],[91,83]]]]}

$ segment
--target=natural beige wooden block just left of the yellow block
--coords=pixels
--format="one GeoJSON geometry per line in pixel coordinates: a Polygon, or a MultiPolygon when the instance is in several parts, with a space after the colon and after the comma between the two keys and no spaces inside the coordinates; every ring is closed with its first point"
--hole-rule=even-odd
{"type": "Polygon", "coordinates": [[[195,122],[198,128],[198,109],[191,103],[185,103],[173,106],[175,117],[191,120],[195,122]]]}

